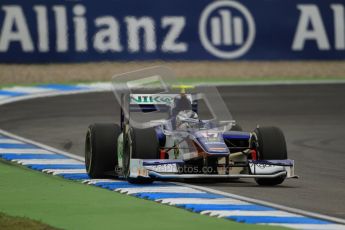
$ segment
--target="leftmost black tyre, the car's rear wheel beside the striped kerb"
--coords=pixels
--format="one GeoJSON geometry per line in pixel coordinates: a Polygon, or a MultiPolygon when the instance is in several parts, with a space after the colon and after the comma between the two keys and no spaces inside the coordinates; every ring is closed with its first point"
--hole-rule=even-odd
{"type": "Polygon", "coordinates": [[[107,178],[115,175],[117,138],[121,133],[116,124],[90,125],[85,140],[85,166],[89,177],[107,178]]]}

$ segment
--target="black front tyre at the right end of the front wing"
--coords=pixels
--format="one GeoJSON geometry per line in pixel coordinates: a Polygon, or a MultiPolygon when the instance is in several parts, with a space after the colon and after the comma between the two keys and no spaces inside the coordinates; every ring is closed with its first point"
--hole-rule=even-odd
{"type": "MultiPolygon", "coordinates": [[[[286,141],[283,132],[277,127],[260,127],[254,130],[254,143],[259,160],[287,159],[286,141]]],[[[274,186],[283,183],[285,176],[276,178],[256,178],[257,184],[274,186]]]]}

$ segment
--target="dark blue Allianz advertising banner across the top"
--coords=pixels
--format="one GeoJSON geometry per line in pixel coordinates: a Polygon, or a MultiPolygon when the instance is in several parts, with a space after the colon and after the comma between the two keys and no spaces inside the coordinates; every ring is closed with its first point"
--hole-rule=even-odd
{"type": "Polygon", "coordinates": [[[1,0],[0,62],[345,59],[344,0],[1,0]]]}

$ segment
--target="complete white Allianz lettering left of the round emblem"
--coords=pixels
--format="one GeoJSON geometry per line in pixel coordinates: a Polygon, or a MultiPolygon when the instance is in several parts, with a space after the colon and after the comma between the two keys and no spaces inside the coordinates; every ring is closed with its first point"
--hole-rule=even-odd
{"type": "Polygon", "coordinates": [[[42,53],[64,53],[72,48],[81,53],[90,49],[98,53],[151,53],[157,50],[183,53],[188,50],[188,44],[179,40],[186,25],[184,16],[164,16],[160,21],[150,16],[131,15],[121,19],[110,15],[93,19],[87,17],[84,5],[77,4],[72,9],[64,5],[34,5],[32,9],[3,5],[0,18],[3,18],[0,21],[0,52],[9,51],[12,43],[19,43],[23,52],[42,53]],[[35,15],[35,23],[28,23],[26,14],[29,10],[35,15]],[[166,31],[160,44],[156,34],[159,29],[166,31]],[[37,39],[33,40],[35,37],[37,39]],[[55,41],[50,44],[52,40],[55,41]]]}

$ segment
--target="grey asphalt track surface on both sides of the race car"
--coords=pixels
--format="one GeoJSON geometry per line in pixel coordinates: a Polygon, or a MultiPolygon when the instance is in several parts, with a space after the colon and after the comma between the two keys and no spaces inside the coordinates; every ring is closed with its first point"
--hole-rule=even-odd
{"type": "MultiPolygon", "coordinates": [[[[252,180],[198,184],[289,207],[345,218],[345,84],[235,86],[219,88],[244,130],[280,127],[298,180],[258,187],[252,180]]],[[[116,122],[110,92],[40,98],[0,107],[0,127],[17,135],[83,155],[89,124],[116,122]]]]}

